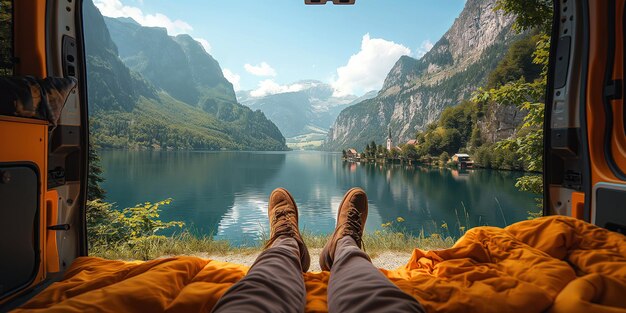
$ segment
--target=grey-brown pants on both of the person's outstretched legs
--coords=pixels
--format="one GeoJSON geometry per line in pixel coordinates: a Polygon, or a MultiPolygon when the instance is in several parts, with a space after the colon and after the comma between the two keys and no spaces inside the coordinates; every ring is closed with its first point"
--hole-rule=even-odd
{"type": "MultiPolygon", "coordinates": [[[[233,285],[213,312],[303,312],[306,289],[298,244],[277,239],[233,285]]],[[[328,282],[329,312],[425,312],[368,260],[352,237],[337,242],[328,282]]]]}

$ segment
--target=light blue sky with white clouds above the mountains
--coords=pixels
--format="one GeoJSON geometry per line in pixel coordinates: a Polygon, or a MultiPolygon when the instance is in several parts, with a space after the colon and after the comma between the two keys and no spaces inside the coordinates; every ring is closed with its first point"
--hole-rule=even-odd
{"type": "Polygon", "coordinates": [[[403,55],[421,57],[465,0],[94,0],[103,15],[131,17],[169,35],[189,34],[222,67],[235,90],[253,96],[329,83],[337,96],[379,90],[403,55]]]}

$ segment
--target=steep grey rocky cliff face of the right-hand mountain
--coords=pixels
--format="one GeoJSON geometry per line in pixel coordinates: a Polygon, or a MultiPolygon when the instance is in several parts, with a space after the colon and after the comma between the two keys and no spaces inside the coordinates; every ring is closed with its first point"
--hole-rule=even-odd
{"type": "Polygon", "coordinates": [[[362,148],[383,142],[391,127],[396,143],[413,138],[446,106],[484,84],[516,37],[513,17],[494,11],[496,0],[468,0],[446,34],[421,59],[403,56],[374,99],[344,109],[324,148],[362,148]]]}

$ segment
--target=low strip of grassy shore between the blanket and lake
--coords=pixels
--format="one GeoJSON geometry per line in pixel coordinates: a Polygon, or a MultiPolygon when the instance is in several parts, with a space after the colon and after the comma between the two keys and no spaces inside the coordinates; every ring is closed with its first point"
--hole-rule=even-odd
{"type": "MultiPolygon", "coordinates": [[[[309,232],[302,234],[309,249],[322,249],[330,235],[314,235],[309,232]]],[[[262,236],[265,238],[267,236],[262,236]]],[[[213,240],[210,236],[196,236],[190,232],[182,232],[173,236],[152,236],[134,244],[98,245],[90,247],[91,256],[118,260],[151,260],[173,255],[230,255],[255,254],[263,249],[265,240],[252,246],[236,247],[225,240],[213,240]]],[[[452,237],[439,234],[418,236],[388,230],[366,233],[363,236],[365,251],[376,257],[383,252],[410,253],[415,248],[434,250],[449,248],[454,244],[452,237]]]]}

